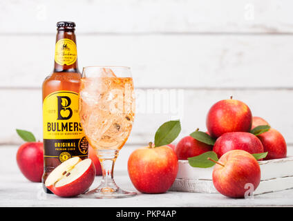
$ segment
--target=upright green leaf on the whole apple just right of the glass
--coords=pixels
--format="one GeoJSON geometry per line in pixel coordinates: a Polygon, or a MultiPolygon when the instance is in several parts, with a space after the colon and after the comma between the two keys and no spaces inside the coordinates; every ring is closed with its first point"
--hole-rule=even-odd
{"type": "Polygon", "coordinates": [[[155,146],[171,144],[181,131],[180,120],[171,120],[158,128],[155,132],[155,146]]]}

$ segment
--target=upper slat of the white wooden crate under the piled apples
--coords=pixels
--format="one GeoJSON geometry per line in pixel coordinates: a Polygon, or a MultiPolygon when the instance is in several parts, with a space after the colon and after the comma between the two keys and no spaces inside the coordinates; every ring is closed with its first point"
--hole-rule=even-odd
{"type": "MultiPolygon", "coordinates": [[[[263,160],[258,164],[261,167],[261,180],[272,180],[280,177],[293,177],[293,157],[276,160],[263,160]]],[[[179,160],[177,178],[182,180],[212,180],[214,166],[197,168],[189,165],[188,160],[179,160]]]]}

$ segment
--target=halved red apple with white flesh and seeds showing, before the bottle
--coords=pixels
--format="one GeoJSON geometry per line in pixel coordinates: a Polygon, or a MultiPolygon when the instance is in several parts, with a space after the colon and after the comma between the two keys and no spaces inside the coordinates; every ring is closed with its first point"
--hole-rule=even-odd
{"type": "Polygon", "coordinates": [[[68,198],[84,193],[95,180],[95,165],[91,159],[72,157],[48,175],[45,185],[60,197],[68,198]]]}

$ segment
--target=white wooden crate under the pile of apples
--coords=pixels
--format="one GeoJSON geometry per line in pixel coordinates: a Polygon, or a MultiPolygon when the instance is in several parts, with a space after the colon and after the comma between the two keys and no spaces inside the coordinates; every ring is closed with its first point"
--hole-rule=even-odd
{"type": "MultiPolygon", "coordinates": [[[[293,157],[276,160],[263,160],[261,183],[254,195],[293,188],[293,157]]],[[[212,181],[213,167],[195,168],[187,160],[179,160],[179,170],[170,191],[193,193],[218,193],[212,181]]]]}

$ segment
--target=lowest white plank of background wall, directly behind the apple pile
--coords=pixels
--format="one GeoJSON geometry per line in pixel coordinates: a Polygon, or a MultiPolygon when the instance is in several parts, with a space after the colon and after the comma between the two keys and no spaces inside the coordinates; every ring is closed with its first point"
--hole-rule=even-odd
{"type": "MultiPolygon", "coordinates": [[[[280,131],[287,144],[293,144],[293,125],[289,120],[292,118],[293,90],[136,90],[136,95],[137,114],[128,140],[132,144],[147,146],[153,141],[158,127],[170,119],[180,119],[182,124],[182,131],[174,143],[196,128],[205,131],[209,108],[231,95],[245,102],[253,115],[263,117],[280,131]],[[162,92],[169,98],[166,99],[162,92]]],[[[0,108],[0,115],[3,116],[1,144],[21,143],[15,128],[33,131],[41,139],[41,90],[1,89],[0,100],[3,104],[0,108]]]]}

